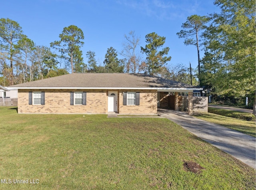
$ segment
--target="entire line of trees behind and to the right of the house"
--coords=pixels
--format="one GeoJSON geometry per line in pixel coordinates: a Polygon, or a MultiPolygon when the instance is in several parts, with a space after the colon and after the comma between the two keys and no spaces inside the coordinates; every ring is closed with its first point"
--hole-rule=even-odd
{"type": "MultiPolygon", "coordinates": [[[[0,85],[29,82],[69,72],[130,72],[161,76],[204,87],[208,95],[222,98],[249,96],[255,105],[255,1],[215,0],[220,13],[192,15],[183,23],[178,38],[196,46],[198,67],[192,79],[187,66],[170,65],[166,38],[155,32],[145,36],[146,45],[134,31],[124,35],[123,50],[107,49],[103,63],[93,51],[81,47],[80,28],[65,27],[50,47],[35,45],[23,34],[18,22],[0,19],[0,85]],[[200,48],[204,51],[200,57],[200,48]],[[57,50],[56,54],[52,50],[57,50]]],[[[184,55],[185,56],[185,55],[184,55]]]]}

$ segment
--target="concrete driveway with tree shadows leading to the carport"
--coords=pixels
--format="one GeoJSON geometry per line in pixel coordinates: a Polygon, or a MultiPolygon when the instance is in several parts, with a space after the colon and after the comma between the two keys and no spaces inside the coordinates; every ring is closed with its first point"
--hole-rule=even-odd
{"type": "Polygon", "coordinates": [[[255,137],[200,120],[186,112],[158,109],[158,114],[256,169],[255,137]]]}

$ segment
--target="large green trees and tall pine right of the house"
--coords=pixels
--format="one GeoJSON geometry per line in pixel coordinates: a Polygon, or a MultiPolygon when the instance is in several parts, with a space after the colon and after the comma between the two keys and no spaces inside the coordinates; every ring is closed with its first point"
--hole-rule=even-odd
{"type": "Polygon", "coordinates": [[[208,95],[226,104],[245,102],[255,114],[256,24],[254,0],[215,0],[219,14],[192,15],[177,33],[198,52],[198,79],[208,95]],[[199,47],[204,56],[200,58],[199,47]]]}

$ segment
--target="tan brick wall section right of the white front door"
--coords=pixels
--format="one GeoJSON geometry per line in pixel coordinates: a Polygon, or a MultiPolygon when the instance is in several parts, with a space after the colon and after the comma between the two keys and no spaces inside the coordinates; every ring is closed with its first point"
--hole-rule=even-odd
{"type": "Polygon", "coordinates": [[[119,114],[156,114],[157,90],[119,90],[119,114]],[[123,92],[140,92],[140,105],[124,106],[123,92]]]}

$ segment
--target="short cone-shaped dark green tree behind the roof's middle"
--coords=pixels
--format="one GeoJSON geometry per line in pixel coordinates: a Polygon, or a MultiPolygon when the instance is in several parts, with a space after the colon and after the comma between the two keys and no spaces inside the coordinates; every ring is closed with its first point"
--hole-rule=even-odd
{"type": "Polygon", "coordinates": [[[106,72],[120,73],[124,72],[124,65],[117,58],[116,50],[113,47],[108,48],[105,55],[104,67],[106,72]]]}

